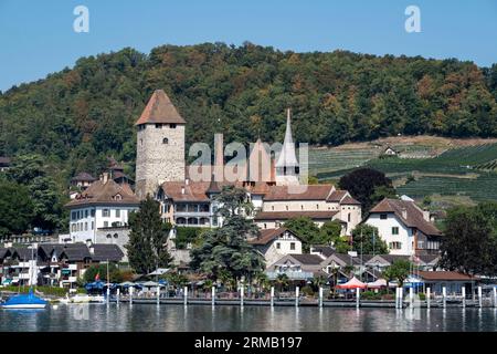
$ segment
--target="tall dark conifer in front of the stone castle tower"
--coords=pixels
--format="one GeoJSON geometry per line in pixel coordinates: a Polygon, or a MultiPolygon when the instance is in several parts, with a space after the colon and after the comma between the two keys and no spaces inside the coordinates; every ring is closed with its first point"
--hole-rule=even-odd
{"type": "Polygon", "coordinates": [[[150,196],[140,201],[139,210],[129,216],[129,241],[125,246],[131,268],[141,274],[157,268],[167,268],[171,257],[167,249],[171,228],[163,223],[159,214],[159,202],[150,196]]]}

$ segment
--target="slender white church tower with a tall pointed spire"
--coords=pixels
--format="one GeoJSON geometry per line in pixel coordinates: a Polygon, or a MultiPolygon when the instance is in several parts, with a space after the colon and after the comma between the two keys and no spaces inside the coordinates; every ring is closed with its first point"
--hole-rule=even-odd
{"type": "Polygon", "coordinates": [[[285,140],[276,162],[276,185],[299,185],[299,166],[295,155],[295,144],[292,138],[290,110],[287,110],[285,140]]]}

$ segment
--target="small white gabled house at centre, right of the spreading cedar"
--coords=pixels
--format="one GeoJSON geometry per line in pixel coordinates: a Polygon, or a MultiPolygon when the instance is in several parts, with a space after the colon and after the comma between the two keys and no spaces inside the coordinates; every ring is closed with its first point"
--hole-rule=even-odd
{"type": "Polygon", "coordinates": [[[286,254],[302,254],[302,239],[286,228],[261,230],[248,243],[264,256],[266,267],[286,254]]]}

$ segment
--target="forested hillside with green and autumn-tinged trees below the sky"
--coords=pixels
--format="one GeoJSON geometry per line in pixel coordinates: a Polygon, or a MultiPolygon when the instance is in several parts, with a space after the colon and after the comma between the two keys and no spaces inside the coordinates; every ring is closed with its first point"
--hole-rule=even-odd
{"type": "Polygon", "coordinates": [[[246,43],[125,49],[0,95],[0,155],[40,154],[60,184],[105,157],[133,173],[133,123],[163,88],[187,140],[282,139],[287,106],[298,142],[341,144],[398,134],[497,136],[497,65],[355,54],[281,52],[246,43]]]}

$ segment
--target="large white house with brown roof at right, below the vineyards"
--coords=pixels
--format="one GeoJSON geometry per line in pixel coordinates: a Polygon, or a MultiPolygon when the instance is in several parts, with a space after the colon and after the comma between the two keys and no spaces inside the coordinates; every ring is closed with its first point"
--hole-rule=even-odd
{"type": "Polygon", "coordinates": [[[430,211],[413,200],[383,199],[371,210],[364,223],[378,228],[391,254],[437,254],[441,231],[431,222],[430,211]]]}

